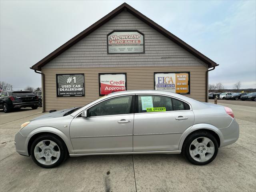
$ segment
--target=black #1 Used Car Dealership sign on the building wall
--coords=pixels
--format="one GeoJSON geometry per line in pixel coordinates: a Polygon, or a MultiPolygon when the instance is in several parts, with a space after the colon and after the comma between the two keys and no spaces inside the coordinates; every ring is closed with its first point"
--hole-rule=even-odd
{"type": "Polygon", "coordinates": [[[84,96],[84,74],[56,74],[57,97],[84,96]]]}

